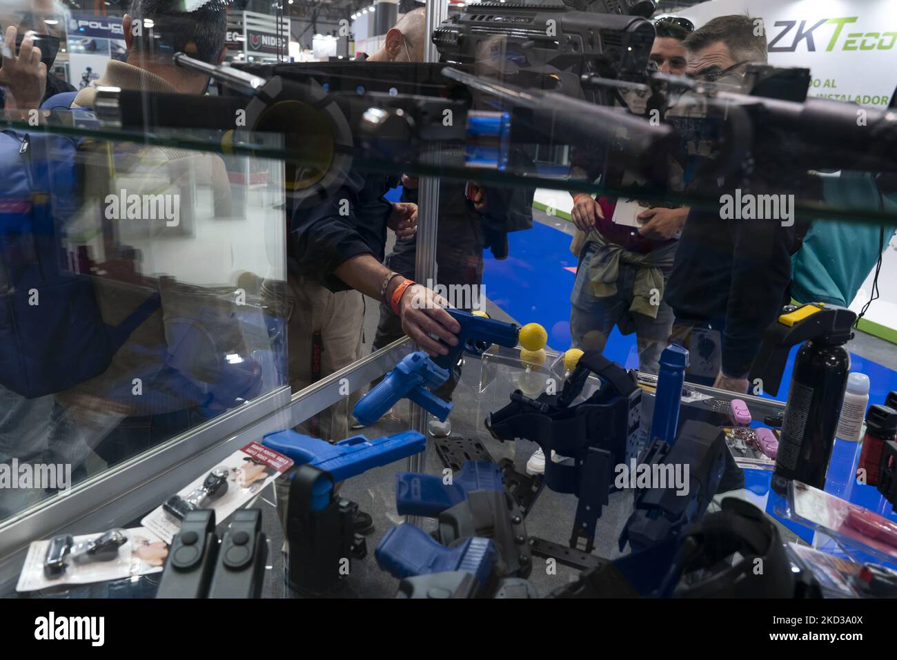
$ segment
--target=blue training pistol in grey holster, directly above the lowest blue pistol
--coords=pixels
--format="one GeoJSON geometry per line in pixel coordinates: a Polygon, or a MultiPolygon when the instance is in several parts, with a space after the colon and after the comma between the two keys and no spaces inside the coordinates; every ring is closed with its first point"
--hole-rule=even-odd
{"type": "Polygon", "coordinates": [[[492,461],[465,461],[450,484],[431,474],[396,472],[396,509],[398,515],[435,517],[466,500],[471,490],[502,488],[504,475],[492,461]]]}

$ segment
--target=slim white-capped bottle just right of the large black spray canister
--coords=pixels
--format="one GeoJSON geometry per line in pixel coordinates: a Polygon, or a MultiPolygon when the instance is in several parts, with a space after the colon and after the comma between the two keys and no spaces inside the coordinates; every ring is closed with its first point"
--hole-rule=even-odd
{"type": "Polygon", "coordinates": [[[841,404],[838,431],[832,444],[829,471],[825,475],[825,490],[837,497],[849,499],[853,473],[856,470],[859,440],[863,436],[863,422],[869,405],[869,377],[852,373],[847,378],[847,390],[841,404]]]}

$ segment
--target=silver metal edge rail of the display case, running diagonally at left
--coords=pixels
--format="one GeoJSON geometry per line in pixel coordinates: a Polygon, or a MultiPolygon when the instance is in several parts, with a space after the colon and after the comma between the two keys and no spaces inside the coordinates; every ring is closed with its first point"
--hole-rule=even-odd
{"type": "Polygon", "coordinates": [[[410,339],[387,347],[290,395],[286,385],[229,410],[121,465],[84,480],[0,524],[0,589],[18,578],[31,541],[119,526],[158,506],[171,493],[262,436],[291,428],[390,371],[414,349],[410,339]]]}

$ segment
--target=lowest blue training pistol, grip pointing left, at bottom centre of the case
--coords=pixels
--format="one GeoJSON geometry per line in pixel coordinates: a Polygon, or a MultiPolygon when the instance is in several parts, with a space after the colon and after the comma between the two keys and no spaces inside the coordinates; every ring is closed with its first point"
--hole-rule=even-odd
{"type": "Polygon", "coordinates": [[[446,570],[463,570],[484,585],[495,566],[497,553],[489,539],[472,536],[452,548],[433,541],[413,524],[393,527],[374,551],[379,567],[396,577],[421,576],[446,570]]]}

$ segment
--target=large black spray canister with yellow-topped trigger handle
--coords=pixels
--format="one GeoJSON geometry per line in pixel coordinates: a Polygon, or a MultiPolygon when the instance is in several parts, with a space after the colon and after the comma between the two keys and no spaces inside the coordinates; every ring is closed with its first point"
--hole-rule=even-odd
{"type": "Polygon", "coordinates": [[[766,392],[779,392],[789,349],[797,351],[779,455],[772,473],[772,489],[784,495],[789,480],[814,488],[825,486],[847,378],[850,354],[844,348],[853,338],[857,315],[844,307],[805,304],[788,308],[763,334],[763,344],[750,378],[761,379],[766,392]]]}

